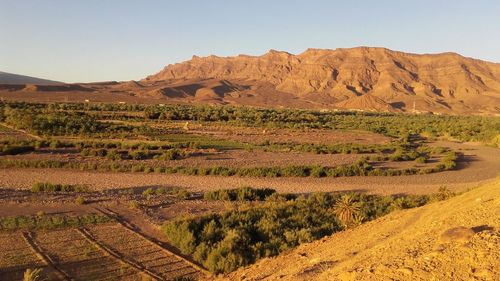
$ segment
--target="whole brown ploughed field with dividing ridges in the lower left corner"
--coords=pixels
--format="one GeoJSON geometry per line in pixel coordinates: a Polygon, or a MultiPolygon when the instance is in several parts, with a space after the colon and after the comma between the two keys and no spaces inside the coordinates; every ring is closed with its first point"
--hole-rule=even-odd
{"type": "Polygon", "coordinates": [[[27,268],[49,280],[196,280],[205,272],[120,223],[0,233],[0,249],[1,280],[22,280],[27,268]]]}

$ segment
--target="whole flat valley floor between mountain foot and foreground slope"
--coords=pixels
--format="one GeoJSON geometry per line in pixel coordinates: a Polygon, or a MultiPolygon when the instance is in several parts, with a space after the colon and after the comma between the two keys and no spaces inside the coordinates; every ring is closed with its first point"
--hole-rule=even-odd
{"type": "Polygon", "coordinates": [[[1,103],[0,122],[1,280],[209,279],[500,172],[495,117],[1,103]]]}

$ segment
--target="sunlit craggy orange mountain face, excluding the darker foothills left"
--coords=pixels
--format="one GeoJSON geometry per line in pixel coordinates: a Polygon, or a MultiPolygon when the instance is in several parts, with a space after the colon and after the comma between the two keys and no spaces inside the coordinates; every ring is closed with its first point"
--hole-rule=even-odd
{"type": "Polygon", "coordinates": [[[271,50],[262,56],[195,56],[144,81],[193,79],[265,82],[279,92],[303,98],[327,94],[340,106],[359,109],[363,104],[356,104],[357,100],[383,101],[401,110],[413,109],[414,104],[430,111],[495,110],[500,99],[500,64],[454,53],[416,55],[367,47],[308,49],[299,55],[271,50]],[[356,98],[367,94],[371,97],[356,98]]]}

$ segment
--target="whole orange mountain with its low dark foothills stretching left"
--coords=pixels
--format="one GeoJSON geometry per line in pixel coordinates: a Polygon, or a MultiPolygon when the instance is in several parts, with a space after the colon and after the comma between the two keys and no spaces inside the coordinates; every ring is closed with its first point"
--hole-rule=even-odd
{"type": "Polygon", "coordinates": [[[194,56],[140,82],[4,85],[0,98],[495,115],[500,64],[369,47],[299,55],[271,50],[262,56],[194,56]]]}

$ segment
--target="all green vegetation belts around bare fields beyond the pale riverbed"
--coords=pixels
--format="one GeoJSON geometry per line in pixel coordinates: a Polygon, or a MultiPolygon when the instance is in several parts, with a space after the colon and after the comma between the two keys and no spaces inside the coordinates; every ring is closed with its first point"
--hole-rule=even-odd
{"type": "MultiPolygon", "coordinates": [[[[259,109],[231,106],[116,105],[116,104],[29,104],[0,103],[0,121],[15,128],[47,137],[46,140],[1,141],[2,154],[33,150],[76,149],[82,156],[105,161],[0,159],[0,167],[68,168],[114,172],[181,173],[249,177],[342,177],[399,176],[440,172],[456,167],[457,154],[442,157],[434,167],[417,165],[406,169],[386,169],[373,162],[415,161],[424,164],[449,151],[439,151],[418,142],[419,134],[430,138],[454,138],[490,142],[500,135],[500,118],[457,117],[409,114],[318,112],[296,109],[259,109]],[[190,121],[203,125],[247,126],[260,128],[316,128],[361,130],[393,137],[382,145],[237,143],[196,135],[175,127],[162,127],[164,120],[190,121]],[[126,121],[123,123],[121,121],[126,121]],[[81,139],[57,140],[58,136],[81,139]],[[127,141],[106,141],[112,136],[127,141]],[[52,138],[52,139],[51,139],[52,138]],[[92,138],[92,140],[85,140],[92,138]],[[183,159],[200,153],[199,149],[259,149],[298,151],[318,154],[376,154],[352,165],[281,167],[191,167],[172,166],[164,161],[183,159]],[[142,161],[156,160],[156,161],[142,161]],[[372,166],[373,165],[373,166],[372,166]]],[[[167,126],[168,127],[168,126],[167,126]]],[[[74,151],[74,150],[73,150],[74,151]]],[[[448,155],[448,154],[447,154],[448,155]]],[[[377,163],[378,164],[378,163],[377,163]]]]}

